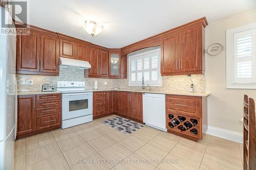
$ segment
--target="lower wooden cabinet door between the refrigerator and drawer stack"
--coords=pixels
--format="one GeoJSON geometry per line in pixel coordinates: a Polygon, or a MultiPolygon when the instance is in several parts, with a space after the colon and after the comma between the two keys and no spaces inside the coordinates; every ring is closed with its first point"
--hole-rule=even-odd
{"type": "Polygon", "coordinates": [[[36,130],[35,95],[18,96],[17,136],[36,130]]]}

